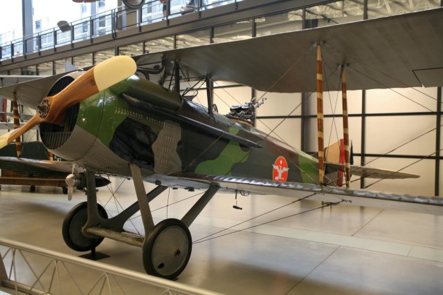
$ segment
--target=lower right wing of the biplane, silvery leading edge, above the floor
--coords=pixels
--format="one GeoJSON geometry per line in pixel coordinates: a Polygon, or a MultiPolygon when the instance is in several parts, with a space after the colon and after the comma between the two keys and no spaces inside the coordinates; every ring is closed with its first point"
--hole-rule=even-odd
{"type": "Polygon", "coordinates": [[[221,189],[251,191],[266,195],[287,196],[291,198],[307,198],[326,202],[341,202],[357,206],[376,207],[443,215],[443,198],[408,196],[396,193],[326,187],[318,184],[298,182],[275,182],[251,178],[236,178],[217,175],[197,175],[193,173],[177,173],[172,176],[186,180],[195,180],[218,185],[221,189]]]}

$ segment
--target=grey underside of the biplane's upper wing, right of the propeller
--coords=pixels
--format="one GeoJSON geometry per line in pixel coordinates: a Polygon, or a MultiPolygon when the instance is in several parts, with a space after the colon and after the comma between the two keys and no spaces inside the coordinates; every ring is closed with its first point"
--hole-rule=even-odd
{"type": "MultiPolygon", "coordinates": [[[[190,75],[209,76],[260,91],[316,89],[316,50],[323,41],[325,77],[338,81],[348,64],[347,89],[442,86],[443,8],[242,41],[134,57],[139,67],[179,61],[190,75]]],[[[329,91],[338,90],[329,83],[329,91]]]]}

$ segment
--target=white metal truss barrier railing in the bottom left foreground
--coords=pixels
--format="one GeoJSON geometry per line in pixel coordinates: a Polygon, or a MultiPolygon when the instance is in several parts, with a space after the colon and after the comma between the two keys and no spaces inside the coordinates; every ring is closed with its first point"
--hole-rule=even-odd
{"type": "Polygon", "coordinates": [[[0,287],[15,294],[219,294],[0,238],[0,287]]]}

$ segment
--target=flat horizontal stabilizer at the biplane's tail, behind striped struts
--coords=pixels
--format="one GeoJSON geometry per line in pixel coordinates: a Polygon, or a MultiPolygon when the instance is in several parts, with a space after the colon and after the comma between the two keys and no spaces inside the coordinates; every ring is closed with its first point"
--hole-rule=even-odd
{"type": "MultiPolygon", "coordinates": [[[[344,164],[326,163],[326,169],[336,169],[344,171],[344,164]]],[[[365,166],[351,165],[351,174],[362,178],[377,178],[377,179],[405,179],[405,178],[419,178],[420,175],[404,173],[399,171],[392,171],[386,169],[371,168],[365,166]]]]}

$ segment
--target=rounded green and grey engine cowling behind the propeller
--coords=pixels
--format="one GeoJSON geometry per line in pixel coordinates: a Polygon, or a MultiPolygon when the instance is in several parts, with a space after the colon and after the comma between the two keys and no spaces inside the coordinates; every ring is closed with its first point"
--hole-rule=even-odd
{"type": "MultiPolygon", "coordinates": [[[[59,93],[81,74],[82,72],[76,72],[62,77],[51,88],[48,96],[59,93]]],[[[107,144],[98,139],[100,131],[105,132],[109,125],[109,118],[103,118],[107,99],[109,101],[116,98],[113,93],[102,91],[71,106],[66,111],[62,124],[40,124],[42,142],[55,155],[75,161],[80,166],[106,173],[129,175],[127,161],[118,157],[109,150],[107,144]]]]}

